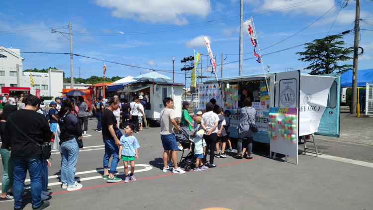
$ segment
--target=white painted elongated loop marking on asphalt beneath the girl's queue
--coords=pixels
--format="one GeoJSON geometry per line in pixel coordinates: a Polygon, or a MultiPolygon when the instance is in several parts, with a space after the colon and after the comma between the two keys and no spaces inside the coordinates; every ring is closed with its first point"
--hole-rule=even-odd
{"type": "MultiPolygon", "coordinates": [[[[145,167],[145,168],[135,169],[134,173],[150,171],[153,169],[152,166],[146,165],[146,164],[135,164],[135,167],[145,167]]],[[[124,168],[124,166],[119,166],[116,169],[122,169],[122,168],[124,168]]],[[[128,168],[131,168],[131,166],[128,166],[128,168]]],[[[92,170],[92,171],[82,171],[82,172],[75,173],[75,175],[96,173],[96,172],[101,172],[101,171],[103,171],[103,169],[92,170]]],[[[124,174],[124,171],[116,173],[115,175],[117,176],[117,175],[122,175],[122,174],[124,174]]],[[[54,179],[54,178],[59,178],[59,177],[61,177],[61,175],[54,175],[54,176],[49,176],[48,179],[54,179]]],[[[102,179],[102,176],[99,175],[99,176],[93,176],[93,177],[80,178],[80,179],[76,179],[75,181],[82,182],[82,181],[93,180],[93,179],[102,179]]],[[[26,179],[25,182],[30,182],[30,179],[26,179]]],[[[53,182],[53,183],[48,183],[48,186],[61,185],[61,184],[62,184],[61,182],[53,182]]],[[[30,189],[30,186],[25,187],[24,189],[30,189]]]]}

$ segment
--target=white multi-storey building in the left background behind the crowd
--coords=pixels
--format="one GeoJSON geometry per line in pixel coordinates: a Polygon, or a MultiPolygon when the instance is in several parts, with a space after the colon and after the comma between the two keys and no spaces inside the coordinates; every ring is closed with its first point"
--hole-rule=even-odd
{"type": "MultiPolygon", "coordinates": [[[[32,95],[35,95],[36,89],[40,89],[40,96],[61,96],[60,92],[66,86],[63,84],[62,70],[49,69],[48,73],[23,72],[23,60],[19,49],[0,46],[0,87],[30,88],[32,95]],[[30,85],[30,74],[34,80],[34,87],[30,85]]],[[[81,89],[81,86],[83,85],[74,84],[74,88],[81,89]]]]}

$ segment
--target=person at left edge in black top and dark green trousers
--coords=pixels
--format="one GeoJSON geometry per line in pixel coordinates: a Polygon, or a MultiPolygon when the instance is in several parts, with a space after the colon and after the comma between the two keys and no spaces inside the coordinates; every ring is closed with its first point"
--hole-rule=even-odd
{"type": "Polygon", "coordinates": [[[16,111],[17,108],[12,105],[5,105],[3,108],[3,111],[0,115],[0,137],[1,137],[1,148],[0,148],[0,154],[1,154],[1,162],[2,167],[4,169],[4,173],[2,175],[2,182],[1,182],[1,197],[0,202],[6,202],[6,201],[13,201],[13,196],[7,195],[8,190],[10,189],[10,192],[12,192],[13,187],[13,163],[10,159],[10,149],[5,145],[5,137],[4,137],[4,128],[5,128],[5,122],[6,118],[16,111]]]}

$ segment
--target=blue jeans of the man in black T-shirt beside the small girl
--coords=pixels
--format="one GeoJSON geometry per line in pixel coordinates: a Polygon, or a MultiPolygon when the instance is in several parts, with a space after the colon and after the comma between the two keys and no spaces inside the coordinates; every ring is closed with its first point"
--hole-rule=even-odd
{"type": "Polygon", "coordinates": [[[103,168],[109,168],[109,159],[113,156],[110,164],[109,173],[114,174],[116,171],[116,166],[119,162],[119,147],[115,145],[114,139],[103,139],[105,144],[105,154],[103,155],[103,168]]]}

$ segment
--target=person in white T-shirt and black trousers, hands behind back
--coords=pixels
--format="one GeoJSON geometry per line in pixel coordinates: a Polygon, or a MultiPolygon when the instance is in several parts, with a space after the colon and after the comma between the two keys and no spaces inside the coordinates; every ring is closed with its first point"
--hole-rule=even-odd
{"type": "MultiPolygon", "coordinates": [[[[203,139],[206,141],[207,148],[210,148],[210,164],[208,164],[210,168],[216,167],[214,165],[214,154],[217,142],[217,126],[219,123],[219,116],[212,111],[213,108],[214,105],[211,102],[207,103],[206,112],[202,114],[201,118],[201,126],[204,130],[203,139]]],[[[207,155],[203,156],[203,163],[207,165],[206,157],[207,155]]]]}

